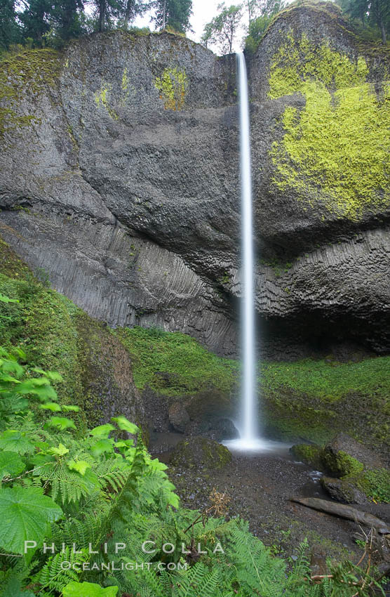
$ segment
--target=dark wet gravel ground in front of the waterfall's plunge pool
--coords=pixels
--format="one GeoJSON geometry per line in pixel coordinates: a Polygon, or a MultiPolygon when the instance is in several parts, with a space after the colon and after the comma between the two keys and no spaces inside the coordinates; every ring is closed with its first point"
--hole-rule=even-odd
{"type": "MultiPolygon", "coordinates": [[[[169,465],[170,452],[156,455],[169,465]]],[[[213,487],[229,494],[229,516],[248,520],[253,534],[274,553],[294,559],[297,546],[307,537],[309,544],[322,544],[335,560],[358,561],[361,550],[352,538],[360,531],[356,523],[290,501],[292,496],[329,498],[319,483],[321,473],[293,461],[288,449],[250,455],[233,452],[231,464],[222,470],[171,467],[167,472],[186,508],[209,506],[213,487]]],[[[390,520],[388,505],[372,504],[364,509],[390,520]]]]}

